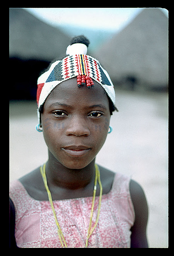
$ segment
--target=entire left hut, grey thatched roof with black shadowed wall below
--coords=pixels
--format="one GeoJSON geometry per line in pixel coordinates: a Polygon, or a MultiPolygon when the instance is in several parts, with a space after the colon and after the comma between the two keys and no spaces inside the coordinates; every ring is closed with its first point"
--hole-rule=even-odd
{"type": "Polygon", "coordinates": [[[65,56],[70,39],[25,9],[10,9],[10,100],[36,99],[39,74],[51,61],[65,56]]]}

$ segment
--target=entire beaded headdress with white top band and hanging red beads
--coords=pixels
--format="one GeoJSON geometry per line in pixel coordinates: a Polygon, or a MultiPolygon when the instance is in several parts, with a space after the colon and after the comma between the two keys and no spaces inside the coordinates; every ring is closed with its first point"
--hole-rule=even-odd
{"type": "Polygon", "coordinates": [[[99,61],[87,55],[88,44],[75,42],[67,47],[67,57],[51,64],[48,71],[38,78],[37,104],[40,124],[40,109],[49,93],[60,83],[77,77],[77,86],[94,86],[94,81],[104,88],[115,104],[115,91],[109,74],[102,68],[99,61]],[[94,80],[94,81],[93,81],[94,80]]]}

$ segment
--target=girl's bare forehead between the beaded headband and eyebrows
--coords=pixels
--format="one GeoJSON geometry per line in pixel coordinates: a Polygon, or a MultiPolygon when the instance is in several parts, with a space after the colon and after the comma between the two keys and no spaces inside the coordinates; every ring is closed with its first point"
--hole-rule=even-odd
{"type": "Polygon", "coordinates": [[[95,104],[105,103],[109,106],[109,100],[107,94],[97,82],[94,82],[94,87],[88,88],[87,86],[77,86],[77,79],[71,78],[67,81],[62,82],[56,86],[52,92],[48,95],[45,105],[49,102],[64,102],[65,104],[77,104],[81,102],[95,102],[95,104]]]}

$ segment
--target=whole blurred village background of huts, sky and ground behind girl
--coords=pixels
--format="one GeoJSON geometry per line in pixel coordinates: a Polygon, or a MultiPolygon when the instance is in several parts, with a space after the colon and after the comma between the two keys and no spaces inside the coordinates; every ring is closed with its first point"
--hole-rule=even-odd
{"type": "Polygon", "coordinates": [[[96,162],[142,185],[149,207],[148,242],[168,247],[168,11],[163,8],[10,8],[10,181],[48,159],[38,123],[41,71],[65,57],[73,36],[116,90],[113,132],[96,162]]]}

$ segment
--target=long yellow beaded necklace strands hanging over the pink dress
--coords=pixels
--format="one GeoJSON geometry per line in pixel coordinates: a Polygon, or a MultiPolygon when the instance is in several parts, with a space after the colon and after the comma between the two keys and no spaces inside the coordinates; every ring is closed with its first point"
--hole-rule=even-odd
{"type": "MultiPolygon", "coordinates": [[[[51,209],[52,209],[53,215],[55,217],[55,221],[56,221],[56,225],[57,225],[57,229],[58,229],[58,236],[59,236],[59,239],[60,239],[61,246],[62,247],[67,247],[67,243],[65,241],[65,238],[63,236],[63,233],[61,231],[60,225],[59,225],[57,217],[56,217],[56,211],[55,211],[55,208],[54,208],[54,205],[53,205],[53,199],[51,197],[51,192],[49,191],[49,188],[48,188],[47,179],[46,179],[46,172],[45,172],[45,166],[46,166],[46,164],[44,164],[43,168],[42,168],[42,166],[40,167],[41,175],[42,175],[42,178],[43,178],[44,186],[45,186],[47,194],[48,194],[49,203],[51,205],[51,209]]],[[[87,233],[87,239],[86,239],[86,243],[85,243],[85,248],[87,248],[87,246],[88,246],[89,237],[92,235],[92,232],[97,227],[97,223],[99,221],[100,209],[101,209],[102,184],[101,184],[101,180],[100,180],[100,171],[99,171],[99,167],[97,166],[97,164],[95,164],[95,170],[96,170],[96,177],[95,177],[95,182],[94,182],[94,191],[93,191],[93,198],[92,198],[92,208],[91,208],[90,221],[89,221],[89,229],[88,229],[88,233],[87,233]],[[99,182],[99,187],[100,187],[99,206],[98,206],[98,213],[97,213],[96,223],[95,223],[94,227],[91,229],[92,216],[93,216],[93,211],[94,211],[94,203],[95,203],[96,190],[97,190],[97,180],[99,182]]]]}

